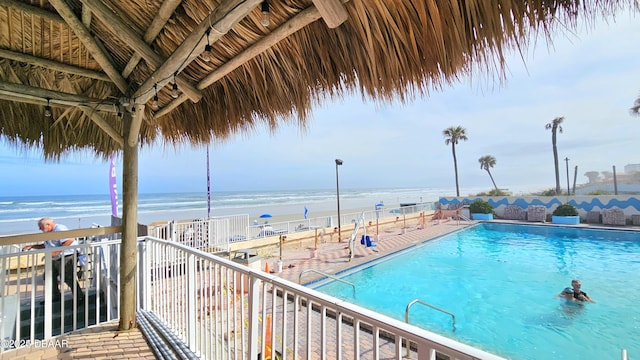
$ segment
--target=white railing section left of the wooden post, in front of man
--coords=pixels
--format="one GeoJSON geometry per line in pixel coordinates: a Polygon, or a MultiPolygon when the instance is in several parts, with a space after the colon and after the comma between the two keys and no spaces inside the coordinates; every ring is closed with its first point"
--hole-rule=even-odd
{"type": "Polygon", "coordinates": [[[0,339],[4,341],[0,352],[117,318],[120,240],[105,238],[70,246],[74,252],[67,259],[54,258],[56,248],[25,252],[18,245],[2,248],[0,339]],[[7,252],[8,247],[17,251],[7,252]],[[65,284],[63,261],[75,267],[73,279],[66,280],[79,284],[80,294],[65,284]],[[61,268],[59,280],[45,276],[52,273],[54,263],[61,268]],[[54,301],[54,281],[61,284],[60,301],[54,301]]]}

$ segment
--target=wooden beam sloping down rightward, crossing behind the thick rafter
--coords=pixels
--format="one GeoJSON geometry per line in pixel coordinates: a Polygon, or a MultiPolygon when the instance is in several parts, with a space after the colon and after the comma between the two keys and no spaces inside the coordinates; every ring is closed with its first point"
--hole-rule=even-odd
{"type": "MultiPolygon", "coordinates": [[[[152,67],[159,67],[163,63],[163,59],[158,55],[147,43],[145,43],[138,34],[130,27],[124,24],[116,14],[113,13],[102,1],[94,0],[81,0],[82,4],[97,16],[102,22],[113,31],[123,42],[129,45],[136,53],[140,54],[149,65],[152,67]]],[[[173,78],[171,79],[173,80],[173,78]]],[[[193,102],[198,102],[202,98],[202,93],[198,91],[193,85],[184,78],[178,78],[178,85],[184,91],[189,99],[193,102]]],[[[144,102],[149,101],[151,97],[155,95],[155,92],[151,93],[151,96],[144,102]]],[[[133,96],[137,97],[137,96],[133,96]]]]}

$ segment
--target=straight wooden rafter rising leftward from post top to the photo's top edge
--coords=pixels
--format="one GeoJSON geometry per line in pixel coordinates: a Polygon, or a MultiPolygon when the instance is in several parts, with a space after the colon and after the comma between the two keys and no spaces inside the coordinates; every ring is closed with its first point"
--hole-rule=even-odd
{"type": "Polygon", "coordinates": [[[67,5],[64,0],[49,0],[49,3],[58,11],[58,14],[62,16],[67,25],[73,30],[76,36],[84,44],[87,50],[91,53],[91,56],[100,64],[102,70],[111,78],[113,83],[123,93],[127,93],[128,84],[127,81],[120,75],[120,72],[109,61],[109,58],[100,50],[100,46],[96,40],[91,36],[89,30],[82,25],[80,20],[76,17],[73,10],[67,5]]]}

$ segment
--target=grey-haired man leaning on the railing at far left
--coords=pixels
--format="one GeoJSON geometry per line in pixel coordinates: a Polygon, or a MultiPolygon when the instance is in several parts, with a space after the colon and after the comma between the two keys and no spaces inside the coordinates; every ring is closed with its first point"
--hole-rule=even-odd
{"type": "MultiPolygon", "coordinates": [[[[54,231],[67,231],[69,230],[66,226],[62,224],[56,224],[53,219],[49,217],[43,217],[38,221],[38,228],[42,232],[54,232],[54,231]]],[[[65,247],[65,246],[73,246],[77,245],[77,242],[74,238],[68,239],[58,239],[58,240],[47,240],[42,244],[36,245],[27,245],[22,248],[22,251],[27,251],[31,249],[49,249],[49,248],[57,248],[57,247],[65,247]]],[[[53,301],[60,301],[61,293],[60,287],[58,286],[59,280],[58,277],[61,274],[61,269],[64,267],[64,282],[69,286],[70,289],[76,288],[76,297],[78,299],[78,303],[84,302],[84,293],[82,292],[82,288],[80,287],[80,283],[78,281],[74,281],[74,274],[76,273],[76,263],[73,261],[74,258],[74,249],[61,249],[59,251],[53,251],[51,253],[51,257],[53,260],[53,264],[51,266],[53,281],[51,282],[51,294],[53,295],[53,301]]],[[[81,259],[84,255],[78,254],[78,259],[81,259]]]]}

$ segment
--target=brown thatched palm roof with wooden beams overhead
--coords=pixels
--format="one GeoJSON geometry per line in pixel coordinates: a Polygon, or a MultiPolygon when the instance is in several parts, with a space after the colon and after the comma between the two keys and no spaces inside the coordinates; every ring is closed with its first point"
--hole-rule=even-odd
{"type": "Polygon", "coordinates": [[[304,126],[314,103],[349,92],[410,100],[472,70],[500,79],[503,54],[534,33],[634,1],[268,0],[269,26],[263,5],[0,0],[0,138],[49,159],[75,149],[106,157],[122,147],[127,102],[146,105],[136,107],[142,144],[304,126]]]}

